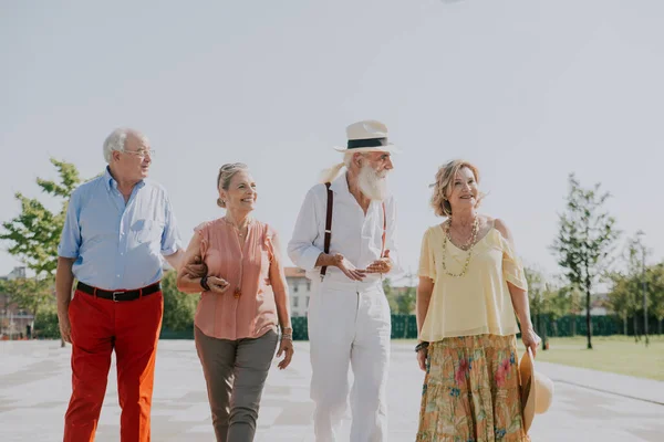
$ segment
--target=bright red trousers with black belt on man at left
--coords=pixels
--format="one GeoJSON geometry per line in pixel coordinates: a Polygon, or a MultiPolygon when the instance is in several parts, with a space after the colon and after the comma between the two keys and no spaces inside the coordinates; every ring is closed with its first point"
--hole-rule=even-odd
{"type": "Polygon", "coordinates": [[[114,349],[122,409],[121,441],[149,441],[163,313],[162,292],[118,303],[75,292],[69,306],[72,398],[64,418],[64,442],[94,441],[114,349]]]}

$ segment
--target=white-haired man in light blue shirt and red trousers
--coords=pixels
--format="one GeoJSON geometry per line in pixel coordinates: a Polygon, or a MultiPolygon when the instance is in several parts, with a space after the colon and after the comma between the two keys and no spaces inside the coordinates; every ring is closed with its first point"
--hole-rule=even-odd
{"type": "Polygon", "coordinates": [[[184,256],[168,194],[146,179],[153,154],[138,131],[114,130],[104,143],[104,173],[69,203],[55,276],[60,332],[72,344],[65,442],[94,440],[114,350],[121,441],[149,441],[162,255],[176,269],[184,256]]]}

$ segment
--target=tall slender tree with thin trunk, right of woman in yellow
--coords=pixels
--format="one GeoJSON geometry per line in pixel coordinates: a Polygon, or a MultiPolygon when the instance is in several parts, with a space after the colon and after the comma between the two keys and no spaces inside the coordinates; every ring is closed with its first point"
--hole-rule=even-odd
{"type": "Polygon", "coordinates": [[[559,215],[559,232],[551,246],[558,257],[558,264],[566,270],[570,284],[578,286],[585,294],[589,349],[592,349],[592,288],[604,273],[606,259],[620,235],[615,229],[615,219],[604,209],[609,197],[609,193],[600,191],[599,183],[592,189],[582,188],[571,173],[567,208],[559,215]]]}

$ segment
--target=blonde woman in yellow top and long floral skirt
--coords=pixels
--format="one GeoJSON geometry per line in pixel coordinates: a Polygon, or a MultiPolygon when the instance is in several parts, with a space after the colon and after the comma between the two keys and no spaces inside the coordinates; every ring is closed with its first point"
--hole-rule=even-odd
{"type": "Polygon", "coordinates": [[[426,371],[417,441],[529,441],[519,394],[516,316],[535,355],[528,286],[512,238],[477,213],[479,172],[454,160],[438,169],[437,215],[422,242],[416,347],[426,371]]]}

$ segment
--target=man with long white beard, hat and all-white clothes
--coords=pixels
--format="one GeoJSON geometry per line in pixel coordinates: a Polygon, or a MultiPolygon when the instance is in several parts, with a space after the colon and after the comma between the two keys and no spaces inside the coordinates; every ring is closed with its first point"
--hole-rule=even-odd
{"type": "Polygon", "coordinates": [[[346,135],[347,146],[336,148],[343,162],[304,198],[288,253],[313,282],[308,317],[315,439],[339,438],[351,366],[351,442],[380,442],[387,439],[392,330],[382,280],[401,272],[386,179],[396,149],[380,122],[354,123],[346,135]]]}

